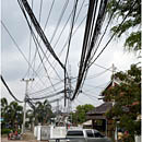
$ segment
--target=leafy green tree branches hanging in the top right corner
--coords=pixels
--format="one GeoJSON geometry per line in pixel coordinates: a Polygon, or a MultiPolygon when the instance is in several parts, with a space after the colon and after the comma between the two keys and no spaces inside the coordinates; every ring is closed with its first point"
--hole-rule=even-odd
{"type": "Polygon", "coordinates": [[[108,13],[114,13],[117,23],[126,19],[123,24],[117,24],[111,28],[113,33],[117,33],[117,37],[128,34],[125,46],[129,50],[141,50],[141,0],[110,0],[108,3],[108,13]]]}

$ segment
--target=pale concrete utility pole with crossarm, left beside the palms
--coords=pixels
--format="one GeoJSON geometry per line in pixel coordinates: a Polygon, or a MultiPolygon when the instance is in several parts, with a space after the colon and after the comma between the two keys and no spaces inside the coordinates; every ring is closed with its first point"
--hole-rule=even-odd
{"type": "Polygon", "coordinates": [[[26,96],[28,95],[28,82],[34,81],[34,79],[27,79],[24,80],[22,79],[22,81],[24,81],[26,83],[25,86],[25,97],[24,97],[24,115],[23,115],[23,126],[22,126],[22,134],[25,133],[25,116],[26,116],[26,96]]]}

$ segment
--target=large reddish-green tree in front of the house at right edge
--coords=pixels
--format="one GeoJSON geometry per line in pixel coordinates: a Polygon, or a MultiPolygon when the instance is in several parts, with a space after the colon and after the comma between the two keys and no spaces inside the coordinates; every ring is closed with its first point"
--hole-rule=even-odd
{"type": "Polygon", "coordinates": [[[129,131],[123,142],[134,142],[134,134],[141,134],[141,69],[135,64],[126,73],[118,72],[115,78],[120,84],[106,91],[106,97],[115,100],[115,106],[107,113],[107,117],[117,119],[119,127],[129,131]]]}

